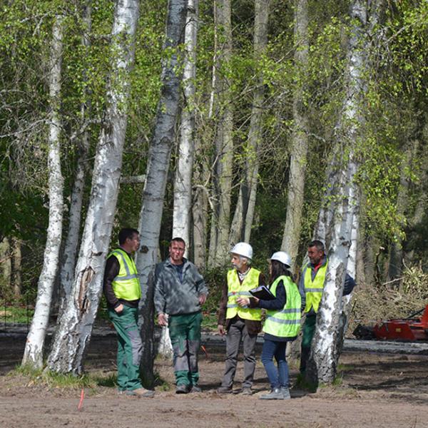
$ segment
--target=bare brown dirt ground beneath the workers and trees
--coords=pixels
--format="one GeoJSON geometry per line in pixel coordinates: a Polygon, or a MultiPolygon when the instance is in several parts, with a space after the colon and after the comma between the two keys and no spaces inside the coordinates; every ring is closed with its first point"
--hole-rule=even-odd
{"type": "MultiPolygon", "coordinates": [[[[136,399],[113,387],[58,389],[8,374],[19,364],[25,336],[0,337],[0,427],[387,427],[428,426],[428,356],[344,352],[342,382],[309,394],[292,389],[292,399],[265,402],[268,388],[261,362],[255,372],[255,394],[215,393],[224,368],[224,348],[207,345],[200,355],[200,394],[175,395],[170,362],[156,362],[170,384],[156,388],[156,397],[136,399]]],[[[260,349],[258,350],[260,355],[260,349]]],[[[86,362],[89,372],[114,373],[116,340],[93,337],[86,362]]],[[[240,387],[238,364],[235,388],[240,387]]],[[[290,368],[291,382],[296,367],[290,368]]]]}

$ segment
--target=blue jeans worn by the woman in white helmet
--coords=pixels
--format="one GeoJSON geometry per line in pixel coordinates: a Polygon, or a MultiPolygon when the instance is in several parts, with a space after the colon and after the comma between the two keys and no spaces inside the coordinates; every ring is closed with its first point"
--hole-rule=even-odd
{"type": "Polygon", "coordinates": [[[272,389],[288,387],[288,365],[285,360],[286,347],[287,342],[275,342],[265,339],[263,343],[262,362],[272,389]],[[275,366],[273,357],[275,357],[278,367],[275,366]]]}

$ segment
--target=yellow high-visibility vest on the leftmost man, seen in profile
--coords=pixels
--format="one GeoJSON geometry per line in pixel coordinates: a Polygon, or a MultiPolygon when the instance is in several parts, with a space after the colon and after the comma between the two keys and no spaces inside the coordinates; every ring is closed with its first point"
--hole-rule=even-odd
{"type": "Polygon", "coordinates": [[[113,250],[108,257],[112,255],[116,256],[120,265],[118,275],[111,282],[114,294],[118,299],[139,300],[141,298],[141,286],[136,263],[121,248],[113,250]]]}

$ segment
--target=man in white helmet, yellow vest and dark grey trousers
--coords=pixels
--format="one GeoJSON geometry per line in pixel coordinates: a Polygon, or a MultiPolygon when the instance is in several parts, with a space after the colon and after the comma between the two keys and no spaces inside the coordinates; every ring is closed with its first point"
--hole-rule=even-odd
{"type": "Polygon", "coordinates": [[[265,285],[265,277],[260,270],[250,266],[253,248],[248,243],[238,243],[230,251],[233,269],[228,271],[220,300],[218,332],[226,335],[226,360],[223,381],[217,392],[233,392],[241,339],[244,351],[244,379],[242,393],[250,395],[255,370],[255,341],[261,330],[259,308],[240,307],[237,299],[250,296],[250,290],[265,285]]]}

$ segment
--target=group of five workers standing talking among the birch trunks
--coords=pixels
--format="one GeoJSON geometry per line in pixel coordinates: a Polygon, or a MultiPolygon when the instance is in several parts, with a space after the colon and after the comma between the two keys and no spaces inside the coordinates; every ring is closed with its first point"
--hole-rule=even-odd
{"type": "MultiPolygon", "coordinates": [[[[134,397],[153,397],[155,392],[143,388],[139,375],[143,344],[138,329],[138,302],[141,285],[133,261],[138,250],[138,230],[125,228],[118,235],[119,247],[107,258],[103,280],[108,315],[118,337],[118,392],[134,397]]],[[[173,370],[177,394],[201,392],[199,386],[198,350],[200,348],[201,306],[208,288],[197,267],[184,258],[185,241],[173,238],[169,257],[156,266],[154,305],[158,325],[168,326],[173,346],[173,370]]],[[[253,248],[238,243],[230,250],[232,269],[228,270],[223,285],[218,312],[218,332],[225,335],[225,372],[218,394],[233,391],[238,363],[238,350],[243,341],[244,379],[241,394],[253,394],[255,372],[255,343],[263,330],[264,342],[261,360],[270,382],[270,392],[260,399],[289,399],[288,366],[285,359],[287,342],[300,332],[300,317],[305,313],[302,326],[302,353],[300,373],[304,374],[315,332],[318,307],[327,272],[325,247],[319,240],[308,245],[309,262],[300,277],[299,286],[292,280],[292,260],[287,253],[278,251],[269,259],[269,277],[265,280],[260,270],[251,265],[253,248]],[[270,295],[259,299],[251,292],[263,285],[270,295]],[[265,320],[262,323],[262,309],[265,320]],[[277,362],[277,365],[273,362],[277,362]]],[[[344,295],[355,286],[346,275],[344,295]]],[[[263,296],[264,297],[264,296],[263,296]]]]}

